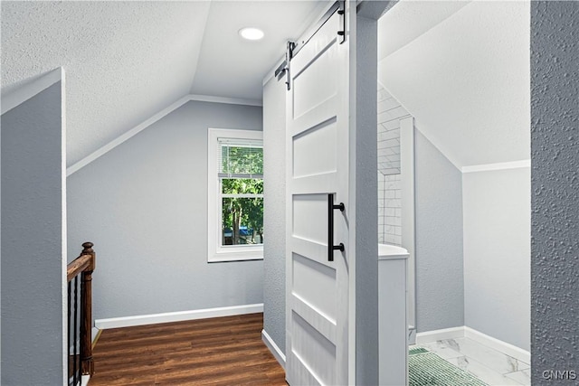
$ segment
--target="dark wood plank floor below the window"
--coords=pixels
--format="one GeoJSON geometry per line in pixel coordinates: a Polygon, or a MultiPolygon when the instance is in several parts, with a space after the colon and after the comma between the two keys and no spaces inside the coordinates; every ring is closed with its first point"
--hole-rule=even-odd
{"type": "Polygon", "coordinates": [[[263,315],[251,314],[104,330],[89,386],[286,386],[262,326],[263,315]]]}

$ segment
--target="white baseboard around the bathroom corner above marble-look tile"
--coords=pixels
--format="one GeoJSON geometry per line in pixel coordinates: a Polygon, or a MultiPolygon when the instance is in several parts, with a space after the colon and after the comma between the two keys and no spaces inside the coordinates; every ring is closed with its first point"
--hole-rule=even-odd
{"type": "Polygon", "coordinates": [[[469,338],[478,344],[482,344],[491,349],[497,350],[499,353],[504,353],[517,359],[518,361],[525,363],[531,362],[531,353],[529,353],[527,350],[523,350],[516,345],[508,344],[507,342],[501,341],[497,338],[493,338],[490,335],[483,334],[474,328],[467,327],[466,325],[418,333],[416,334],[416,344],[421,345],[443,341],[446,339],[458,338],[469,338]]]}

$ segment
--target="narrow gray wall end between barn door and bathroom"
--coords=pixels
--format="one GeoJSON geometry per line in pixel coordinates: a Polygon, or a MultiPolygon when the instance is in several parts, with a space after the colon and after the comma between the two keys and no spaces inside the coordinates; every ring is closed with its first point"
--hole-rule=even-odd
{"type": "MultiPolygon", "coordinates": [[[[377,18],[379,14],[375,14],[377,18]]],[[[356,18],[356,384],[378,384],[377,22],[356,18]]],[[[350,141],[353,137],[350,137],[350,141]]],[[[350,198],[352,202],[352,198],[350,198]]]]}

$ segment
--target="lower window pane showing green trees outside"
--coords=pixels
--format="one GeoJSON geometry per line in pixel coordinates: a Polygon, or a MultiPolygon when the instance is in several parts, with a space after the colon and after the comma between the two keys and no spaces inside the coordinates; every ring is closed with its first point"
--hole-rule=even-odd
{"type": "Polygon", "coordinates": [[[222,245],[263,243],[263,198],[223,198],[222,245]]]}

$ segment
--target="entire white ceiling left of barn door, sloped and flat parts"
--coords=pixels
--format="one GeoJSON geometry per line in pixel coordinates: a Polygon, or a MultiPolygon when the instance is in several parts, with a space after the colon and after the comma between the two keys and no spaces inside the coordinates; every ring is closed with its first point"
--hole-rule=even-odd
{"type": "Polygon", "coordinates": [[[2,94],[62,66],[73,165],[189,93],[261,99],[322,3],[2,1],[2,94]],[[250,24],[262,42],[240,41],[250,24]]]}

